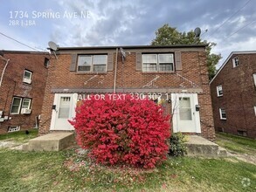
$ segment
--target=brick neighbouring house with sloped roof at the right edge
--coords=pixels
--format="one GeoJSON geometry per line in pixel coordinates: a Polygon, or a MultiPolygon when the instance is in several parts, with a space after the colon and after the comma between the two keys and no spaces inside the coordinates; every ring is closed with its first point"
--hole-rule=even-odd
{"type": "Polygon", "coordinates": [[[215,129],[256,138],[256,51],[234,51],[211,80],[215,129]]]}

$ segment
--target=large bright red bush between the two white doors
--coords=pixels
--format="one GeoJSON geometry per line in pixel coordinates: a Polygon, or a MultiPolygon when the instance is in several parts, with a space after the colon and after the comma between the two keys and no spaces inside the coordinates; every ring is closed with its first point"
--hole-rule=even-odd
{"type": "Polygon", "coordinates": [[[77,106],[70,123],[80,147],[103,164],[154,168],[169,150],[170,116],[149,99],[92,97],[77,106]]]}

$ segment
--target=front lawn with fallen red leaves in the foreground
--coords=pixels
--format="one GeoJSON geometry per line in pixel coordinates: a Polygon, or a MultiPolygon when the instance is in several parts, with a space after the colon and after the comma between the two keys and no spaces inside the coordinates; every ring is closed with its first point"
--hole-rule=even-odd
{"type": "MultiPolygon", "coordinates": [[[[107,168],[86,154],[0,150],[0,191],[255,191],[256,166],[235,159],[171,158],[151,170],[107,168]],[[243,186],[244,178],[250,183],[243,186]]],[[[246,181],[247,182],[247,181],[246,181]]],[[[247,184],[247,183],[245,183],[247,184]]]]}

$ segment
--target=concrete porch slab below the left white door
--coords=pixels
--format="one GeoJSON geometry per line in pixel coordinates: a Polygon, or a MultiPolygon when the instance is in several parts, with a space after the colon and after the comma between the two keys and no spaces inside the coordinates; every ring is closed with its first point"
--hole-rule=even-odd
{"type": "Polygon", "coordinates": [[[28,151],[60,151],[72,146],[74,141],[73,133],[56,132],[30,140],[23,149],[28,151]]]}

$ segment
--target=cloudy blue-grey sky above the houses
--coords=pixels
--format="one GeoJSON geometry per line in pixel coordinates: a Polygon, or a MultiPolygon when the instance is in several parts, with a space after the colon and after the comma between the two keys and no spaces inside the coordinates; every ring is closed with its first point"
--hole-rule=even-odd
{"type": "Polygon", "coordinates": [[[163,24],[199,27],[222,65],[232,51],[256,51],[256,0],[0,0],[0,50],[150,45],[163,24]],[[20,43],[17,43],[20,42],[20,43]]]}

